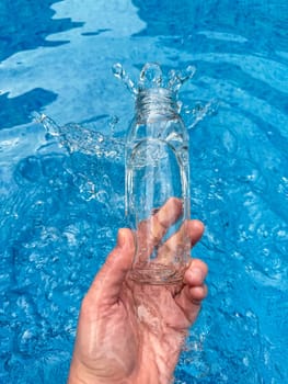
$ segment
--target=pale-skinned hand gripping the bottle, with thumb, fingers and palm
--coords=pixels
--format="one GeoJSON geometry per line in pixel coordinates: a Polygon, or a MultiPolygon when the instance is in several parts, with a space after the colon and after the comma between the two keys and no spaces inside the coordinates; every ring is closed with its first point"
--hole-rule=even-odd
{"type": "MultiPolygon", "coordinates": [[[[153,241],[164,235],[178,210],[178,202],[171,199],[150,218],[153,241]]],[[[199,221],[185,225],[193,248],[204,226],[199,221]]],[[[168,239],[165,251],[173,244],[168,239]]],[[[119,229],[116,247],[82,302],[68,384],[173,382],[188,328],[207,295],[207,266],[192,259],[177,284],[139,284],[129,276],[134,255],[131,230],[119,229]]]]}

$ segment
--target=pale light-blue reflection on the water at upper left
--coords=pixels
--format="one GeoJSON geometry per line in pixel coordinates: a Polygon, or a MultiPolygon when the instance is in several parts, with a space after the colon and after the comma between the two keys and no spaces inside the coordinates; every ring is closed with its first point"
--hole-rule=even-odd
{"type": "MultiPolygon", "coordinates": [[[[34,2],[35,0],[32,1],[34,2]]],[[[21,9],[21,4],[19,8],[21,9]]],[[[41,10],[38,5],[35,8],[35,23],[42,29],[41,22],[37,24],[41,10]]],[[[129,61],[130,65],[130,59],[127,58],[131,50],[139,48],[137,42],[130,41],[130,35],[143,26],[137,18],[135,7],[123,0],[84,0],[81,7],[73,1],[56,2],[53,10],[49,11],[50,16],[53,15],[50,24],[44,23],[47,26],[45,44],[37,39],[42,33],[37,33],[35,37],[36,32],[32,31],[30,38],[34,37],[35,44],[38,44],[26,50],[22,42],[19,42],[14,47],[14,55],[9,55],[10,57],[0,63],[0,102],[1,93],[9,93],[9,101],[12,99],[13,103],[14,98],[41,88],[57,95],[49,103],[39,105],[41,112],[54,116],[61,124],[96,118],[103,112],[110,115],[126,114],[127,104],[119,95],[120,86],[118,90],[116,86],[117,97],[111,100],[111,94],[115,94],[115,83],[111,81],[110,68],[118,59],[122,61],[122,63],[129,61]],[[67,44],[62,44],[64,42],[67,44]],[[115,105],[118,106],[117,111],[115,105]]],[[[11,19],[7,18],[8,23],[9,20],[11,19]]],[[[26,41],[25,34],[23,39],[26,41]]],[[[9,46],[11,44],[10,42],[9,46]]],[[[35,102],[33,99],[31,104],[35,102]]],[[[31,111],[24,110],[23,118],[22,115],[12,118],[4,127],[26,123],[30,113],[31,111]]],[[[0,123],[2,128],[3,123],[0,123]]]]}

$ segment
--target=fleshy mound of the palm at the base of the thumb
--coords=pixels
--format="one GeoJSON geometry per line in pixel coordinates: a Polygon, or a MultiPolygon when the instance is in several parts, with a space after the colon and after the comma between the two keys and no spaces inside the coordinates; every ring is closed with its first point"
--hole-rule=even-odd
{"type": "Polygon", "coordinates": [[[130,304],[119,300],[112,305],[95,305],[88,295],[82,305],[77,341],[80,348],[76,351],[88,369],[107,383],[129,376],[136,366],[138,335],[130,304]]]}

